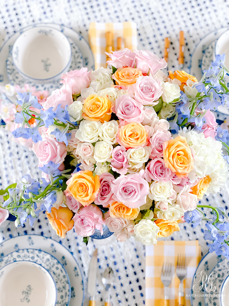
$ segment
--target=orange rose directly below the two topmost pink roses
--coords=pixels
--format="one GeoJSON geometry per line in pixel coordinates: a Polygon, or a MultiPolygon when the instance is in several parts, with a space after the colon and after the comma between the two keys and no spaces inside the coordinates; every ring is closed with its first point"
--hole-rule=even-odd
{"type": "Polygon", "coordinates": [[[139,76],[142,76],[141,70],[132,67],[119,68],[112,74],[112,78],[116,81],[116,84],[124,86],[130,86],[136,83],[139,76]]]}

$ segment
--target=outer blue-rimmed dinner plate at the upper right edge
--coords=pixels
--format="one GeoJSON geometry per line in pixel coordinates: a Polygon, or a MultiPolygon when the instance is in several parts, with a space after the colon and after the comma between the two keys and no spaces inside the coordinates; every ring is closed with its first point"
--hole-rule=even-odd
{"type": "Polygon", "coordinates": [[[225,31],[227,31],[227,27],[217,29],[215,31],[210,32],[206,36],[204,36],[196,45],[190,59],[190,74],[195,76],[198,81],[202,78],[202,71],[201,71],[201,61],[202,56],[213,40],[216,40],[220,37],[221,34],[223,34],[225,31]]]}

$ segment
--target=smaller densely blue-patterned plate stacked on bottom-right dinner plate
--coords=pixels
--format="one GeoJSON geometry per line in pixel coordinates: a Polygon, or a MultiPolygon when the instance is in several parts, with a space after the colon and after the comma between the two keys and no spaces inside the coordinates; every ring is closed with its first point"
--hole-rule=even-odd
{"type": "MultiPolygon", "coordinates": [[[[224,258],[219,263],[215,265],[210,273],[213,278],[210,278],[210,282],[207,282],[207,288],[211,288],[211,283],[213,286],[211,290],[208,290],[205,294],[204,300],[206,306],[221,306],[221,285],[224,283],[224,280],[229,275],[229,261],[227,258],[224,258]]],[[[228,293],[227,293],[228,294],[228,293]]],[[[225,305],[226,306],[226,305],[225,305]]]]}

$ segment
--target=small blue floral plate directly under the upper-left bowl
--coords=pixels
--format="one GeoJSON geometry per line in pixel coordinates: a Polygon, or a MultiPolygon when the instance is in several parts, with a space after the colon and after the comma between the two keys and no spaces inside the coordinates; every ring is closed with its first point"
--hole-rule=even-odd
{"type": "MultiPolygon", "coordinates": [[[[71,39],[68,38],[71,44],[71,50],[72,50],[72,60],[71,60],[71,66],[69,68],[69,71],[75,70],[75,69],[81,69],[83,67],[83,56],[82,53],[77,46],[77,44],[71,39]]],[[[46,84],[38,84],[35,82],[30,82],[28,79],[24,78],[16,69],[16,67],[13,64],[12,59],[12,46],[9,45],[9,55],[6,60],[6,72],[9,79],[9,82],[11,85],[19,85],[21,88],[24,87],[25,84],[29,84],[30,87],[35,87],[36,91],[40,90],[47,90],[51,94],[53,90],[60,88],[62,84],[60,84],[60,80],[53,81],[51,83],[46,84]]]]}

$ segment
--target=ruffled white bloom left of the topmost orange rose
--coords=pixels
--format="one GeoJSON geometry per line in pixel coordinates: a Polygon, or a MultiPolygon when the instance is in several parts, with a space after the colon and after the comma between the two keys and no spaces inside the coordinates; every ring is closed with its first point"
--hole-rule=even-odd
{"type": "Polygon", "coordinates": [[[111,75],[111,69],[108,68],[99,68],[92,71],[90,74],[91,83],[89,87],[92,87],[95,92],[110,88],[111,85],[114,85],[111,75]]]}

